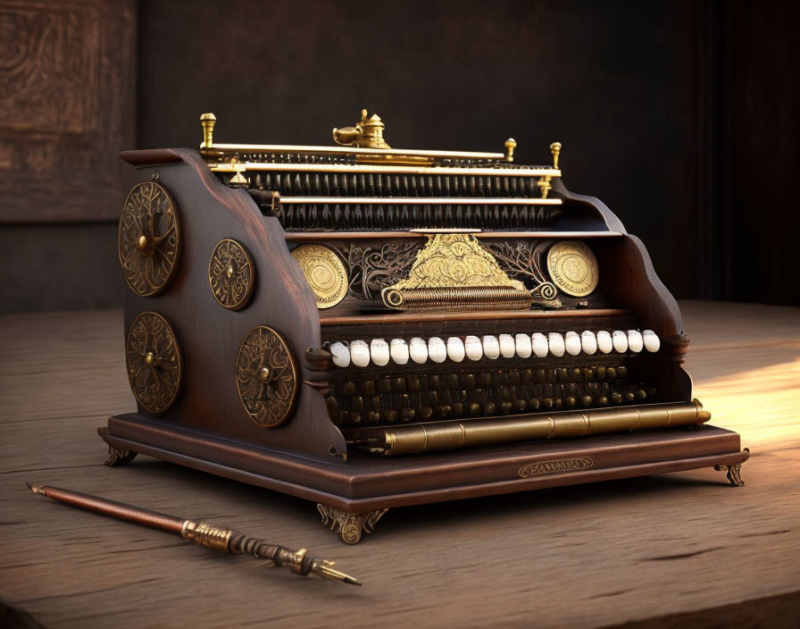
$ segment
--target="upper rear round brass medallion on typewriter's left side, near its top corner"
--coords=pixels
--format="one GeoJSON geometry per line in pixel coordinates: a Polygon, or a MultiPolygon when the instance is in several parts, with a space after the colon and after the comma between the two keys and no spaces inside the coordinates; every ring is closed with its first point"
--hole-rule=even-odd
{"type": "Polygon", "coordinates": [[[122,274],[137,295],[150,297],[167,288],[178,270],[178,210],[154,181],[130,189],[120,217],[117,249],[122,274]]]}

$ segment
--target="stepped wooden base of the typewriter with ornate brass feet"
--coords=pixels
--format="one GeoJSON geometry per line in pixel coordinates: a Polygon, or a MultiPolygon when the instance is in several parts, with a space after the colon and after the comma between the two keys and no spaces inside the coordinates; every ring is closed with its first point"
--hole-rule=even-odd
{"type": "Polygon", "coordinates": [[[117,415],[98,430],[108,465],[134,453],[187,465],[319,503],[323,524],[355,543],[390,507],[478,498],[700,467],[738,470],[750,456],[739,435],[702,425],[578,440],[531,441],[412,457],[358,454],[321,460],[254,447],[171,426],[142,415],[117,415]]]}

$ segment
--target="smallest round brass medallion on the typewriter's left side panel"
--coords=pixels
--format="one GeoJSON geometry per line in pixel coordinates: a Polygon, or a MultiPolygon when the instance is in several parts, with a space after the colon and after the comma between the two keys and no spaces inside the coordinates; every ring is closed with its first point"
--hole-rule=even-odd
{"type": "Polygon", "coordinates": [[[255,286],[255,266],[246,248],[236,240],[220,240],[208,263],[208,283],[220,306],[244,308],[255,286]]]}

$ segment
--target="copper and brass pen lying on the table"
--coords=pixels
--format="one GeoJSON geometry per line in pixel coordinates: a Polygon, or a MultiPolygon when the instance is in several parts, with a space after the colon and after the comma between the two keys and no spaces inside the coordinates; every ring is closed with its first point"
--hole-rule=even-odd
{"type": "Polygon", "coordinates": [[[348,585],[361,585],[353,576],[334,570],[331,567],[334,562],[308,557],[306,549],[287,549],[285,546],[257,540],[254,537],[246,536],[244,533],[220,528],[212,524],[184,520],[179,517],[126,505],[122,502],[114,502],[97,496],[78,493],[77,491],[63,490],[57,487],[37,487],[28,482],[25,484],[28,485],[30,491],[46,498],[54,499],[57,502],[63,502],[72,507],[79,507],[118,520],[150,526],[166,533],[174,533],[185,540],[195,541],[201,546],[210,549],[220,550],[231,555],[250,555],[258,559],[269,559],[276,566],[287,567],[292,572],[302,576],[313,573],[331,581],[347,583],[348,585]]]}

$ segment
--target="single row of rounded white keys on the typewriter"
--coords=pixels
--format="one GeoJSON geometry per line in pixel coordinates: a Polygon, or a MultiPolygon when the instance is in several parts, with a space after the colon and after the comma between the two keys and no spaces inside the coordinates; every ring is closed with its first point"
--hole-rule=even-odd
{"type": "Polygon", "coordinates": [[[329,345],[329,352],[333,364],[338,367],[348,367],[352,363],[357,367],[367,365],[388,365],[389,360],[396,365],[406,365],[409,360],[417,365],[427,362],[444,363],[448,358],[454,363],[461,363],[464,358],[480,360],[489,358],[495,360],[504,358],[529,358],[536,356],[544,358],[550,356],[578,356],[596,354],[599,350],[603,354],[612,351],[625,354],[629,351],[638,353],[642,349],[657,352],[661,347],[658,335],[652,330],[638,331],[615,330],[613,332],[590,330],[578,332],[550,332],[547,335],[541,332],[533,334],[500,334],[494,336],[487,334],[482,339],[477,336],[461,337],[451,336],[447,340],[437,336],[428,340],[414,337],[411,340],[372,339],[353,340],[350,343],[336,341],[329,345]]]}

